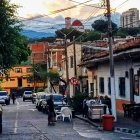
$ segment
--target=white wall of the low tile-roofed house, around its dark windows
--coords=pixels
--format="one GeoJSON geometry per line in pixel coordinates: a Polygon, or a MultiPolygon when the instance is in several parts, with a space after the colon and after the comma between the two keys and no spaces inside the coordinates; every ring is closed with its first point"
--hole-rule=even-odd
{"type": "MultiPolygon", "coordinates": [[[[130,100],[130,77],[125,76],[125,72],[128,71],[132,67],[134,69],[134,74],[137,74],[137,70],[140,68],[140,64],[132,64],[129,61],[120,61],[114,63],[114,71],[115,71],[115,91],[116,91],[116,98],[123,99],[123,100],[130,100]],[[125,97],[119,95],[119,77],[125,77],[125,97]]],[[[94,76],[97,76],[97,92],[98,95],[108,95],[108,77],[110,77],[110,68],[109,64],[103,63],[98,66],[96,70],[94,70],[94,76]],[[99,78],[104,77],[104,94],[100,93],[99,90],[99,78]]],[[[91,82],[91,78],[88,78],[89,83],[91,82]]],[[[96,80],[94,79],[94,89],[96,90],[96,80]]],[[[139,89],[140,90],[140,89],[139,89]]],[[[135,101],[140,102],[140,95],[135,96],[135,101]]]]}

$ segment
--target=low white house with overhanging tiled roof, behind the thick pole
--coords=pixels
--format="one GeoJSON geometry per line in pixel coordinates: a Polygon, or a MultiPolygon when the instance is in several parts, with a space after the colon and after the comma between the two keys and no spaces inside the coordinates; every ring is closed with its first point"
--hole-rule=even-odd
{"type": "MultiPolygon", "coordinates": [[[[116,107],[122,111],[123,103],[140,102],[140,38],[126,40],[114,47],[116,107]]],[[[109,52],[96,52],[85,57],[89,93],[93,96],[111,96],[109,52]]]]}

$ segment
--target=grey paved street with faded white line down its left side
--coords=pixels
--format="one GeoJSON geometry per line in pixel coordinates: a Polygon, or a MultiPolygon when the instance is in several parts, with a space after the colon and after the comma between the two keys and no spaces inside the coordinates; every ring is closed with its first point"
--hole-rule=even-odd
{"type": "Polygon", "coordinates": [[[0,140],[139,140],[133,135],[98,131],[79,119],[47,125],[47,115],[38,112],[30,101],[17,99],[3,106],[3,133],[0,140]]]}

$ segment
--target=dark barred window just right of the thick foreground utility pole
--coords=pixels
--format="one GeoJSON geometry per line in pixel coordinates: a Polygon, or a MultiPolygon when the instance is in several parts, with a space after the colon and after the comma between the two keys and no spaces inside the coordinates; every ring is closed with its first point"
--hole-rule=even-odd
{"type": "Polygon", "coordinates": [[[119,78],[119,94],[120,96],[125,97],[125,78],[124,77],[119,78]]]}

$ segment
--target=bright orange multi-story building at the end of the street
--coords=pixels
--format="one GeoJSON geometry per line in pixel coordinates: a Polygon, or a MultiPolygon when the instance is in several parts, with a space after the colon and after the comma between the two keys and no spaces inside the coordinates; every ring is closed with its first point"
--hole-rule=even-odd
{"type": "Polygon", "coordinates": [[[19,65],[13,67],[9,71],[8,77],[1,73],[1,88],[7,90],[10,94],[15,91],[18,95],[22,95],[24,90],[33,90],[34,87],[43,87],[43,83],[31,81],[29,75],[32,75],[32,66],[19,65]]]}

